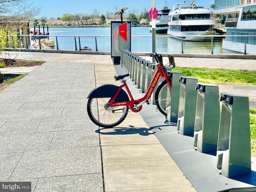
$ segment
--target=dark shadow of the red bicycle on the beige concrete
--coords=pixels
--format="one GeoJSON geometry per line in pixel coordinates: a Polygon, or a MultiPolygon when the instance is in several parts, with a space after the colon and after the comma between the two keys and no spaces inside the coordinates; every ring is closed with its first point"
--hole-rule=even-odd
{"type": "Polygon", "coordinates": [[[128,134],[140,134],[141,136],[148,136],[154,133],[151,132],[150,128],[145,127],[115,127],[115,128],[101,128],[95,131],[102,135],[128,135],[128,134]],[[106,132],[109,130],[109,132],[106,132]]]}

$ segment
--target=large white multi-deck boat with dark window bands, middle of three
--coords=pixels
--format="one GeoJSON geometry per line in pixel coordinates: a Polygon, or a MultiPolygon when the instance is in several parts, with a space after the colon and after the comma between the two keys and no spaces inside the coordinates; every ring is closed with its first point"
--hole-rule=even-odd
{"type": "MultiPolygon", "coordinates": [[[[171,36],[190,36],[183,37],[183,40],[200,41],[210,40],[211,37],[202,35],[215,35],[214,19],[210,18],[212,12],[204,7],[197,6],[192,0],[191,3],[174,4],[172,12],[169,13],[168,31],[171,36]]],[[[181,39],[180,37],[174,37],[181,39]]]]}

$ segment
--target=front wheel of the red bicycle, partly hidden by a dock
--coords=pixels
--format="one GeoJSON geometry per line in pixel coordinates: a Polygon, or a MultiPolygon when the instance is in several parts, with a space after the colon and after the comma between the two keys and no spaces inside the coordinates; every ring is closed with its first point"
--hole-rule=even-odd
{"type": "Polygon", "coordinates": [[[167,116],[166,108],[170,106],[172,93],[167,86],[167,81],[164,80],[157,88],[154,95],[155,104],[158,110],[167,116]]]}

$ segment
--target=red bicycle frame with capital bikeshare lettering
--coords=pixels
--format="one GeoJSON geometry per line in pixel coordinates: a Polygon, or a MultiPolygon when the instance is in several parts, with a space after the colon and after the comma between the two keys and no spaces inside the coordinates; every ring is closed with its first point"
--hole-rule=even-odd
{"type": "Polygon", "coordinates": [[[164,70],[164,66],[157,63],[156,67],[157,67],[157,71],[154,74],[154,77],[153,77],[152,81],[150,82],[150,85],[149,85],[148,90],[144,97],[134,100],[134,98],[128,88],[128,85],[126,84],[126,81],[123,80],[122,81],[123,84],[118,88],[114,97],[109,100],[108,107],[112,108],[112,107],[116,107],[116,106],[129,106],[133,112],[139,112],[142,109],[142,104],[146,103],[147,100],[150,99],[152,93],[154,92],[154,89],[156,88],[156,84],[160,78],[166,79],[168,88],[171,90],[172,84],[170,82],[168,74],[166,74],[166,71],[164,70]],[[130,100],[123,101],[123,102],[114,102],[116,96],[118,95],[118,93],[120,92],[120,90],[123,87],[126,88],[128,95],[130,97],[130,100]]]}

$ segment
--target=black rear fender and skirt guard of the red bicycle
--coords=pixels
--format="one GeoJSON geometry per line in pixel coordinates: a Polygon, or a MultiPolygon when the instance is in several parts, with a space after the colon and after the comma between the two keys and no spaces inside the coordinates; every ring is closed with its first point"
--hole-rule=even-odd
{"type": "MultiPolygon", "coordinates": [[[[93,89],[87,98],[108,98],[114,97],[119,86],[112,84],[104,84],[93,89]]],[[[114,102],[128,101],[129,97],[126,92],[121,89],[114,102]]]]}

